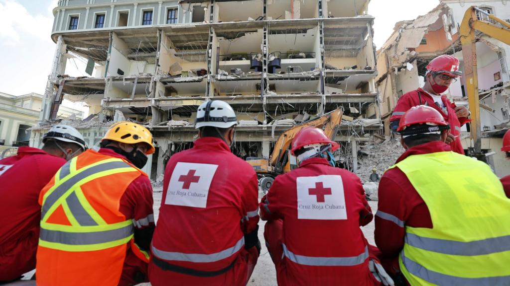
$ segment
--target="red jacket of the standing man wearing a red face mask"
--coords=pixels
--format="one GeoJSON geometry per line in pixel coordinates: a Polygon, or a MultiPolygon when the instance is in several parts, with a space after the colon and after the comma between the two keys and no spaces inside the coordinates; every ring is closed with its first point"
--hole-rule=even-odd
{"type": "Polygon", "coordinates": [[[450,124],[450,133],[453,136],[457,136],[454,141],[451,142],[451,148],[454,152],[464,155],[464,148],[461,144],[461,126],[470,120],[466,117],[457,118],[455,116],[455,110],[452,106],[452,103],[446,98],[446,96],[442,96],[443,104],[448,108],[448,114],[445,114],[441,108],[439,108],[435,103],[434,99],[422,89],[417,89],[412,92],[408,92],[401,96],[398,99],[397,106],[393,110],[390,121],[399,121],[402,115],[404,115],[405,111],[411,109],[413,106],[417,105],[427,105],[438,110],[443,118],[450,124]]]}

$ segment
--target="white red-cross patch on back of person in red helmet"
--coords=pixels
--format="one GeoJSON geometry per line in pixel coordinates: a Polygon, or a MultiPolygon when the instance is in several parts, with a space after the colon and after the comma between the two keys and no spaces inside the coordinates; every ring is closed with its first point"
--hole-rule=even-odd
{"type": "Polygon", "coordinates": [[[347,219],[341,176],[298,177],[296,184],[298,219],[347,219]]]}

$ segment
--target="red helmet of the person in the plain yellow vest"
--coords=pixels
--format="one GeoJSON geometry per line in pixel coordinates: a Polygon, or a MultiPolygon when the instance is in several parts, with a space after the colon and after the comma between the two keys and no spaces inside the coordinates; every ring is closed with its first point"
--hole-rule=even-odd
{"type": "Polygon", "coordinates": [[[448,126],[448,123],[445,121],[438,110],[430,106],[418,105],[413,106],[411,109],[405,111],[404,115],[400,118],[397,132],[400,132],[406,127],[415,124],[448,126]]]}

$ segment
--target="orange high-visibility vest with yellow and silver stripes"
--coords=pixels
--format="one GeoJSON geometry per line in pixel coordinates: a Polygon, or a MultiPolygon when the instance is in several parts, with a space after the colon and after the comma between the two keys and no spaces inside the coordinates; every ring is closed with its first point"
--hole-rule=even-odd
{"type": "Polygon", "coordinates": [[[134,225],[120,198],[139,176],[126,160],[87,150],[65,164],[39,196],[38,285],[117,285],[134,225]]]}

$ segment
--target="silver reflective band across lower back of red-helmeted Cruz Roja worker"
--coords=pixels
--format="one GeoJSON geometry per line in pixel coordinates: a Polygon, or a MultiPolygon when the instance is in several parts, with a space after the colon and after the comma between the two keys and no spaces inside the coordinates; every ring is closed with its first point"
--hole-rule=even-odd
{"type": "Polygon", "coordinates": [[[292,262],[308,266],[355,266],[365,262],[368,258],[368,247],[358,256],[352,257],[316,257],[294,254],[283,244],[284,255],[292,262]]]}

